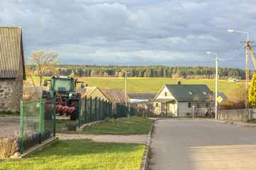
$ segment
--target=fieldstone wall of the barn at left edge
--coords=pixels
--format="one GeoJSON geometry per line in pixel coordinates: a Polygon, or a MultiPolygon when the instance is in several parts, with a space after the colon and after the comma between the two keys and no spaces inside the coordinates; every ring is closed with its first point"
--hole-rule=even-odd
{"type": "Polygon", "coordinates": [[[16,111],[16,79],[0,79],[0,111],[16,111]]]}

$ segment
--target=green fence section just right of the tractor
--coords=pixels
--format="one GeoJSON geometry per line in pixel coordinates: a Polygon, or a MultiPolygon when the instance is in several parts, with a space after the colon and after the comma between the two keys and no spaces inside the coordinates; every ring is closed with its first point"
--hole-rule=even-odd
{"type": "Polygon", "coordinates": [[[80,98],[80,114],[78,117],[78,128],[85,123],[97,120],[104,120],[112,117],[112,103],[101,100],[100,98],[80,98]]]}

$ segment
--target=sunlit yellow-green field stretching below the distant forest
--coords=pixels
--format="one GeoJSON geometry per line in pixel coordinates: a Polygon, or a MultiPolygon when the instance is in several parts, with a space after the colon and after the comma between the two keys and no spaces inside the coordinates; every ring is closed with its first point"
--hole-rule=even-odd
{"type": "MultiPolygon", "coordinates": [[[[28,80],[30,80],[27,77],[28,80]]],[[[45,77],[44,79],[50,79],[45,77]]],[[[35,77],[36,82],[39,78],[35,77]]],[[[101,78],[101,77],[81,77],[79,81],[85,81],[88,86],[97,86],[100,89],[124,89],[124,78],[101,78]]],[[[171,78],[128,78],[127,91],[129,93],[142,93],[142,92],[159,92],[164,84],[176,84],[178,79],[171,78]]],[[[211,91],[215,91],[214,79],[181,79],[181,84],[206,84],[211,91]]],[[[218,81],[218,91],[223,92],[226,96],[238,86],[238,83],[233,83],[228,80],[218,81]]]]}

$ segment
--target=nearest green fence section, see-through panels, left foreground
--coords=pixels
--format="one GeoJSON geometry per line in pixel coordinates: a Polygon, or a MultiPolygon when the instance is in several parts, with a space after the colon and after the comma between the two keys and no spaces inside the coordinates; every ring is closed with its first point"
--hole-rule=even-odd
{"type": "Polygon", "coordinates": [[[21,101],[21,154],[55,136],[55,98],[21,101]]]}

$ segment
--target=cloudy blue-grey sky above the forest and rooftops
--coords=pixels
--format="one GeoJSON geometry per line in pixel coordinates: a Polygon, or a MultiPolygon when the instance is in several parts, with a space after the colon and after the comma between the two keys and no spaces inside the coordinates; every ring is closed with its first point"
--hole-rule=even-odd
{"type": "Polygon", "coordinates": [[[20,26],[26,55],[54,50],[60,64],[215,67],[213,52],[220,67],[245,69],[247,34],[228,30],[256,40],[254,2],[0,0],[0,26],[20,26]]]}

